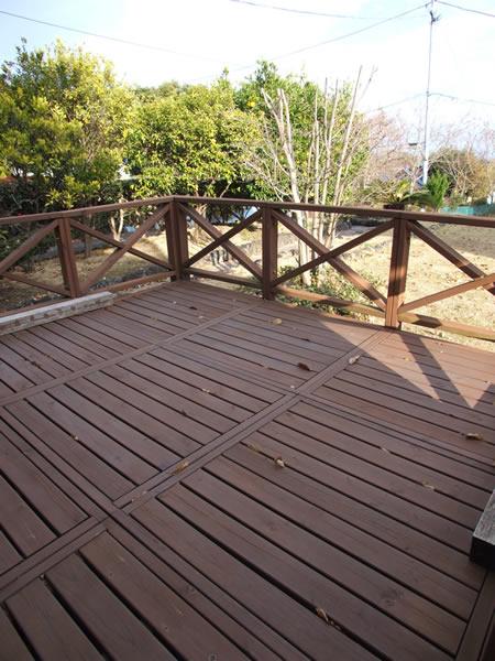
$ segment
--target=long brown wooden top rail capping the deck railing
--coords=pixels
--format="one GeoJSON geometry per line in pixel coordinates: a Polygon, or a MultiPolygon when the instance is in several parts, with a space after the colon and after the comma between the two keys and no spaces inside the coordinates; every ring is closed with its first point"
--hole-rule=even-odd
{"type": "Polygon", "coordinates": [[[257,208],[284,208],[292,210],[323,212],[328,214],[342,214],[372,218],[399,218],[404,220],[428,220],[430,223],[442,223],[450,225],[469,225],[471,227],[495,228],[495,217],[491,216],[462,216],[460,214],[439,214],[430,212],[405,212],[400,209],[383,209],[371,206],[331,206],[319,204],[297,204],[294,202],[270,202],[265,199],[243,199],[235,197],[196,197],[188,195],[170,195],[166,197],[148,197],[116,204],[103,204],[91,207],[80,207],[63,212],[47,212],[43,214],[29,214],[22,216],[7,216],[0,218],[0,226],[14,225],[19,223],[36,223],[41,220],[53,220],[54,218],[74,218],[101,214],[118,209],[135,208],[140,206],[154,206],[167,202],[182,202],[191,204],[213,204],[217,206],[251,206],[257,208]]]}

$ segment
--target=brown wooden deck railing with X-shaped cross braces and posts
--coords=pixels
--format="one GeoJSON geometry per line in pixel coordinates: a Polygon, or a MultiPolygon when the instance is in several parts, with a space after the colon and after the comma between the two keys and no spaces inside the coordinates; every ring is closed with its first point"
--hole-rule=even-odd
{"type": "Polygon", "coordinates": [[[375,209],[370,207],[332,207],[308,204],[257,202],[251,199],[169,196],[123,204],[100,205],[97,207],[72,209],[67,212],[1,218],[0,229],[3,226],[19,224],[34,224],[36,229],[18,248],[12,250],[10,254],[0,261],[0,278],[31,284],[64,296],[77,297],[89,291],[94,291],[99,286],[105,286],[106,290],[119,290],[164,278],[188,279],[190,275],[194,275],[197,278],[221,280],[244,286],[254,286],[262,291],[265,299],[274,299],[277,294],[284,294],[286,296],[314,301],[315,303],[324,303],[337,308],[346,308],[358,313],[382,317],[384,324],[391,328],[399,328],[403,322],[407,322],[432,328],[441,328],[451,333],[495,340],[495,330],[493,328],[471,326],[455,319],[442,319],[418,314],[416,312],[417,308],[422,307],[424,305],[429,305],[477,288],[483,288],[491,294],[495,294],[495,273],[483,272],[454,248],[446,243],[435,232],[428,229],[425,226],[426,221],[433,224],[468,225],[473,228],[485,227],[495,231],[495,218],[491,217],[468,218],[465,216],[427,214],[396,209],[375,209]],[[208,220],[205,213],[200,213],[196,208],[199,206],[201,209],[205,209],[208,208],[208,205],[213,206],[217,209],[243,206],[255,210],[222,234],[218,227],[208,220]],[[119,209],[135,209],[139,207],[147,209],[148,213],[152,208],[155,210],[146,216],[141,225],[135,228],[124,241],[117,240],[112,238],[112,236],[94,229],[84,223],[85,218],[94,216],[95,214],[111,213],[119,209]],[[329,249],[297,221],[294,217],[294,212],[380,218],[382,223],[345,243],[329,249]],[[135,248],[138,241],[150,231],[151,228],[155,227],[157,223],[163,224],[164,231],[166,232],[167,259],[153,257],[147,252],[143,252],[135,248]],[[241,247],[231,241],[235,235],[255,223],[261,224],[262,227],[261,266],[253,261],[241,247]],[[189,254],[190,243],[188,238],[188,227],[191,225],[198,226],[202,232],[206,232],[211,239],[208,245],[200,248],[193,256],[189,254]],[[297,237],[297,239],[308,246],[311,256],[307,263],[300,264],[289,271],[285,271],[283,274],[279,273],[277,266],[279,227],[284,227],[297,237]],[[354,271],[342,259],[342,256],[352,248],[391,229],[393,232],[392,256],[387,293],[384,295],[362,274],[354,271]],[[106,257],[94,272],[87,274],[84,279],[78,274],[74,253],[74,231],[90,235],[116,248],[116,250],[106,257]],[[50,232],[55,232],[56,236],[64,286],[54,286],[52,283],[33,281],[24,274],[11,271],[11,269],[50,232]],[[405,302],[411,235],[415,235],[418,239],[422,240],[444,259],[454,264],[465,273],[470,280],[415,301],[405,302]],[[222,247],[230,253],[239,264],[250,273],[250,278],[240,278],[239,275],[226,273],[220,270],[211,271],[199,269],[195,266],[219,247],[222,247]],[[128,253],[140,257],[155,267],[160,267],[161,272],[123,283],[110,285],[106,283],[101,284],[101,280],[109,269],[128,253]],[[296,290],[284,284],[305,271],[315,269],[323,263],[329,264],[338,271],[363,294],[367,302],[364,304],[355,301],[341,300],[307,290],[296,290]]]}

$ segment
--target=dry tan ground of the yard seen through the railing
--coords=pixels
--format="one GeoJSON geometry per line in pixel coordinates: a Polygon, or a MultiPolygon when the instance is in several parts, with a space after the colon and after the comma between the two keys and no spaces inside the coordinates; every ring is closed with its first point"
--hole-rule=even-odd
{"type": "MultiPolygon", "coordinates": [[[[487,273],[495,271],[495,231],[480,227],[466,227],[455,225],[438,225],[426,224],[447,243],[460,251],[466,259],[475,263],[480,269],[487,273]]],[[[348,241],[354,236],[354,230],[348,230],[338,236],[336,245],[348,241]]],[[[200,234],[190,237],[191,246],[190,253],[195,252],[198,246],[206,242],[206,237],[200,234]]],[[[237,243],[245,243],[260,239],[258,231],[244,230],[235,237],[237,243]]],[[[378,284],[378,289],[386,294],[386,282],[388,278],[389,257],[392,247],[392,234],[388,231],[366,243],[345,253],[345,261],[356,271],[364,273],[373,273],[378,284]]],[[[142,238],[136,248],[140,250],[166,259],[166,240],[164,235],[148,236],[142,238]]],[[[84,280],[95,268],[97,268],[108,254],[112,252],[112,248],[98,248],[92,250],[89,258],[82,256],[77,257],[77,268],[79,278],[84,280]]],[[[280,254],[279,266],[296,266],[296,256],[290,248],[284,249],[280,254]]],[[[260,259],[256,250],[251,254],[252,259],[260,259]]],[[[197,264],[200,268],[209,268],[215,270],[210,259],[202,260],[197,264]]],[[[122,278],[140,277],[145,273],[144,269],[150,267],[148,262],[127,254],[119,260],[107,273],[106,280],[101,281],[101,285],[119,281],[122,278]]],[[[222,270],[228,270],[234,274],[245,274],[245,271],[237,267],[232,261],[222,262],[222,270]]],[[[23,275],[32,280],[44,281],[52,284],[62,284],[62,273],[57,259],[50,259],[37,262],[34,269],[23,275]]],[[[438,292],[462,282],[468,282],[470,278],[453,267],[450,262],[439,256],[435,250],[429,248],[420,239],[413,237],[409,257],[408,281],[406,290],[406,301],[414,301],[438,292]]],[[[50,297],[56,299],[56,295],[48,294],[50,297]]],[[[28,302],[38,302],[45,300],[47,292],[37,288],[32,288],[25,284],[0,280],[0,300],[3,310],[12,310],[28,304],[28,302]]],[[[443,319],[451,319],[482,326],[495,328],[495,299],[483,289],[473,290],[464,294],[460,294],[452,299],[435,303],[418,310],[421,314],[438,316],[443,319]]],[[[376,322],[376,319],[373,319],[376,322]]],[[[459,335],[437,332],[419,326],[405,324],[407,330],[420,333],[428,336],[440,336],[446,339],[451,339],[461,344],[479,346],[484,349],[495,351],[495,343],[487,343],[473,338],[462,337],[459,335]]]]}

